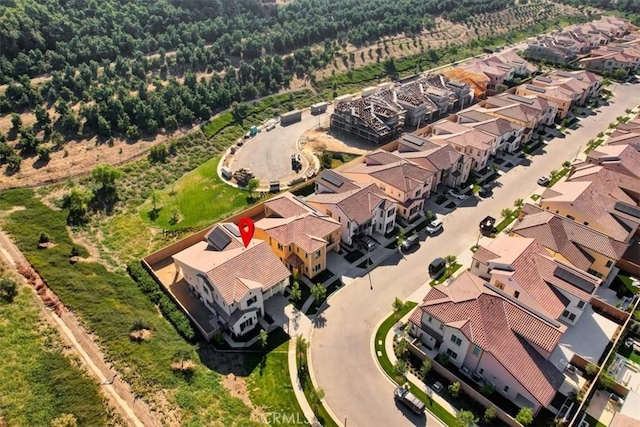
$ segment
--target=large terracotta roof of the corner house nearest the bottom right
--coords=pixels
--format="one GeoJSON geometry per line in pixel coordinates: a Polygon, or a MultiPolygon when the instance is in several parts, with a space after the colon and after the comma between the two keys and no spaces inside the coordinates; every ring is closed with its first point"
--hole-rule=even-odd
{"type": "MultiPolygon", "coordinates": [[[[469,287],[476,292],[476,280],[462,275],[447,287],[469,287]],[[460,280],[460,283],[457,283],[460,280]]],[[[429,293],[441,296],[447,291],[439,285],[429,293]]],[[[466,292],[463,292],[466,293],[466,292]]],[[[475,345],[490,353],[543,406],[548,405],[563,383],[563,375],[529,343],[551,352],[566,328],[554,326],[519,305],[485,288],[477,298],[460,302],[430,298],[411,316],[421,326],[422,313],[456,327],[475,345]]]]}

